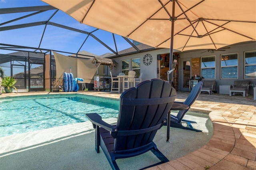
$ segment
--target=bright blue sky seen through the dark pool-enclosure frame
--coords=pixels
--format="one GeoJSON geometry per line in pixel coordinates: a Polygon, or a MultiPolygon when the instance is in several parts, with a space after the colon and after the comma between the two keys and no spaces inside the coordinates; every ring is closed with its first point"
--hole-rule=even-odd
{"type": "MultiPolygon", "coordinates": [[[[15,7],[26,7],[26,6],[43,6],[48,5],[40,0],[0,0],[0,8],[15,8],[15,7]]],[[[1,27],[12,26],[17,24],[26,24],[30,22],[46,21],[54,13],[55,10],[50,10],[31,16],[29,18],[24,18],[9,24],[4,24],[1,27]]],[[[22,17],[33,12],[23,12],[14,14],[1,14],[0,23],[12,20],[14,18],[22,17]]],[[[79,30],[84,30],[91,32],[96,28],[80,24],[78,21],[74,20],[72,17],[68,16],[62,11],[58,11],[57,14],[50,20],[57,24],[62,24],[79,30]]],[[[20,28],[8,31],[0,32],[0,43],[22,45],[28,47],[38,47],[42,33],[44,31],[45,25],[34,26],[29,28],[20,28]]],[[[114,46],[113,36],[109,32],[103,30],[98,30],[93,32],[94,36],[98,37],[102,42],[106,43],[109,47],[116,51],[114,46]]],[[[63,28],[58,28],[55,26],[48,25],[44,34],[44,38],[40,45],[40,48],[67,51],[70,53],[78,52],[80,46],[86,39],[86,34],[81,34],[78,32],[72,32],[63,28]]],[[[121,36],[115,35],[116,43],[118,44],[117,49],[121,51],[131,47],[131,45],[126,42],[121,36]]],[[[104,47],[98,41],[96,41],[91,36],[88,37],[85,44],[79,51],[88,51],[96,55],[102,55],[104,53],[112,53],[109,49],[104,47]]],[[[1,53],[11,53],[13,51],[1,50],[1,53]]]]}

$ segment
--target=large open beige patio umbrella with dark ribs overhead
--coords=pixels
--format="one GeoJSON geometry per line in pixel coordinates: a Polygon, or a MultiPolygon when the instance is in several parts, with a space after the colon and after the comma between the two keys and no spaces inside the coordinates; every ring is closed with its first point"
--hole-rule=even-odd
{"type": "Polygon", "coordinates": [[[170,48],[170,61],[173,49],[219,49],[256,39],[256,0],[42,1],[80,23],[170,48]]]}

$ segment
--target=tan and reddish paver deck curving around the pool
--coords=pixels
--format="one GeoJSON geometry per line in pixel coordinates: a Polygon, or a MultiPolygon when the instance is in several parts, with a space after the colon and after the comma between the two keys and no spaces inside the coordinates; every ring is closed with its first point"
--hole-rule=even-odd
{"type": "MultiPolygon", "coordinates": [[[[88,91],[87,95],[119,98],[120,94],[88,91]]],[[[2,94],[4,96],[27,95],[28,93],[2,94]]],[[[46,94],[46,92],[30,93],[46,94]]],[[[184,101],[188,92],[177,92],[177,101],[184,101]]],[[[180,158],[148,168],[166,169],[256,169],[256,101],[253,96],[229,96],[202,93],[190,111],[208,113],[214,132],[211,140],[201,148],[180,158]]],[[[101,154],[102,155],[102,154],[101,154]]],[[[97,160],[100,160],[97,155],[97,160]]],[[[104,157],[104,154],[103,154],[104,157]]],[[[72,159],[72,158],[71,158],[72,159]]],[[[106,159],[106,158],[105,158],[106,159]]],[[[147,160],[148,161],[148,160],[147,160]]],[[[84,168],[82,168],[84,169],[84,168]]]]}

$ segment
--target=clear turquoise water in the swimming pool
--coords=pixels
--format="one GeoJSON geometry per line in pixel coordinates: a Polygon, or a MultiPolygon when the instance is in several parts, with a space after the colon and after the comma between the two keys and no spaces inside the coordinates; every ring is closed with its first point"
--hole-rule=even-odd
{"type": "Polygon", "coordinates": [[[0,137],[88,121],[118,117],[119,101],[88,95],[37,95],[0,99],[0,137]]]}

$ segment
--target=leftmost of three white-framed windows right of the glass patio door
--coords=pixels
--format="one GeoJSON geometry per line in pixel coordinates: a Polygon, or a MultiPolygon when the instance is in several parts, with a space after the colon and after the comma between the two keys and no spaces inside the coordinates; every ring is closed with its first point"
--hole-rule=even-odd
{"type": "Polygon", "coordinates": [[[201,69],[204,79],[215,79],[215,56],[202,57],[201,69]]]}

